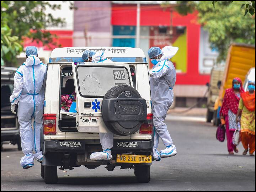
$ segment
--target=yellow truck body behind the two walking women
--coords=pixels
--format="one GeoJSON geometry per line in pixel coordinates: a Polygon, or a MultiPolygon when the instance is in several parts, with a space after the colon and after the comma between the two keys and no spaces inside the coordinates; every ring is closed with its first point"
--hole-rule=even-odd
{"type": "Polygon", "coordinates": [[[247,72],[255,67],[255,46],[233,43],[229,47],[224,75],[220,85],[219,96],[215,100],[213,124],[220,123],[219,111],[225,90],[232,87],[232,81],[238,77],[244,82],[247,72]]]}

